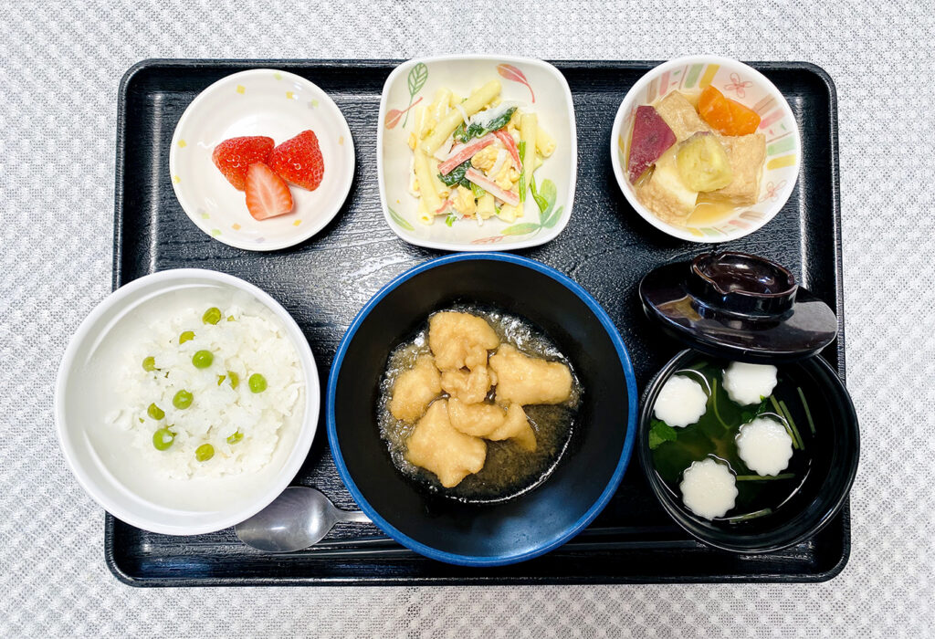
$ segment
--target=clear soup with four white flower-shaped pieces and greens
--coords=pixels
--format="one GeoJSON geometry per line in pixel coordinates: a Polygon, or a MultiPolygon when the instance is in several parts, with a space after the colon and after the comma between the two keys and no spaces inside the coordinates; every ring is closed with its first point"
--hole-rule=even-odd
{"type": "Polygon", "coordinates": [[[768,516],[811,468],[812,412],[775,366],[699,362],[669,377],[653,409],[655,471],[700,518],[768,516]]]}

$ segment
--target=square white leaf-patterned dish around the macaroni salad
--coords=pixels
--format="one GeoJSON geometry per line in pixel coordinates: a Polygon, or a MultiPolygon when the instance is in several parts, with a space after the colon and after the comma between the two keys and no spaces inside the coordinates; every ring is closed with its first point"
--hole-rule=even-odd
{"type": "Polygon", "coordinates": [[[410,244],[440,250],[512,250],[544,244],[560,234],[571,218],[578,175],[577,130],[571,91],[565,77],[552,64],[532,58],[493,55],[450,55],[421,58],[393,70],[380,101],[377,132],[377,174],[383,216],[390,228],[410,244]],[[549,210],[558,215],[530,217],[505,222],[492,218],[479,226],[460,221],[446,226],[438,218],[433,224],[419,221],[418,200],[409,192],[410,158],[408,140],[413,129],[412,107],[431,103],[442,87],[467,95],[491,79],[503,85],[501,97],[534,110],[539,123],[555,139],[552,157],[536,171],[539,187],[552,180],[556,195],[549,210]]]}

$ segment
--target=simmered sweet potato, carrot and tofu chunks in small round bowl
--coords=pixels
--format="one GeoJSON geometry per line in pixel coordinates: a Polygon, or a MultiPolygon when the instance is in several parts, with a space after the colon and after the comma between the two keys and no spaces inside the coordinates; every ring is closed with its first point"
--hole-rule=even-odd
{"type": "Polygon", "coordinates": [[[759,122],[710,85],[638,107],[626,163],[637,199],[676,226],[714,223],[755,204],[766,163],[759,122]]]}

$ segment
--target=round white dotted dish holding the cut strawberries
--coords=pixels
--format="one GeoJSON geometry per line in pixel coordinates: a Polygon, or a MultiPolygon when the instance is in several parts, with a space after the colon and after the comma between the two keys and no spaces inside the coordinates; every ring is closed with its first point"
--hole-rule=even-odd
{"type": "Polygon", "coordinates": [[[351,191],[351,129],[327,93],[295,74],[252,69],[221,78],[194,98],[172,135],[169,173],[185,214],[199,229],[237,249],[291,247],[321,231],[351,191]],[[244,193],[211,161],[218,143],[239,135],[266,135],[276,144],[311,129],[324,158],[315,191],[290,187],[288,215],[253,220],[244,193]]]}

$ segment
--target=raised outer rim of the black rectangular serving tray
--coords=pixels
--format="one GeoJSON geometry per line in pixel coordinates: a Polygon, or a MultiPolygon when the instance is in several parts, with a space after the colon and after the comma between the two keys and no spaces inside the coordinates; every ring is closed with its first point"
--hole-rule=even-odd
{"type": "MultiPolygon", "coordinates": [[[[137,76],[153,67],[168,68],[262,68],[269,65],[280,65],[287,70],[294,70],[304,66],[317,66],[324,68],[345,68],[348,66],[384,68],[395,67],[397,64],[405,62],[405,59],[281,59],[281,58],[257,58],[257,59],[237,59],[237,58],[146,58],[130,66],[123,74],[117,91],[117,130],[116,130],[116,153],[114,164],[114,220],[113,220],[113,253],[111,269],[111,289],[116,290],[125,281],[122,281],[123,269],[123,208],[125,193],[123,190],[124,178],[124,159],[126,155],[127,141],[127,93],[131,88],[137,76]]],[[[652,68],[665,61],[659,60],[545,60],[549,64],[554,64],[559,71],[568,68],[592,68],[592,69],[643,69],[652,68]]],[[[839,333],[834,348],[838,358],[837,373],[841,381],[846,383],[845,378],[845,353],[844,353],[844,291],[843,291],[843,251],[841,242],[841,175],[840,175],[840,153],[838,140],[838,92],[834,80],[827,71],[817,64],[806,61],[742,61],[744,64],[750,64],[757,70],[788,70],[798,69],[809,72],[819,78],[828,92],[828,133],[829,133],[829,155],[830,155],[830,181],[831,181],[831,229],[833,234],[832,257],[837,268],[834,273],[835,283],[835,313],[838,317],[839,333]]],[[[233,71],[232,71],[233,72],[233,71]]],[[[717,245],[713,245],[717,246],[717,245]]],[[[451,251],[447,251],[451,253],[451,251]]],[[[720,575],[714,577],[692,577],[682,575],[660,575],[652,579],[633,578],[624,576],[621,578],[599,575],[594,578],[572,576],[562,578],[560,575],[549,576],[488,576],[479,574],[477,576],[416,576],[416,577],[391,577],[385,576],[356,576],[356,577],[205,577],[197,578],[190,576],[180,577],[137,577],[130,575],[119,564],[114,546],[114,529],[116,519],[108,512],[104,513],[104,560],[111,575],[114,575],[118,581],[126,586],[135,588],[211,588],[211,587],[237,587],[237,586],[331,586],[331,587],[387,587],[387,586],[544,586],[544,585],[599,585],[599,584],[756,584],[756,583],[822,583],[833,579],[841,574],[846,567],[851,556],[851,517],[850,517],[850,497],[848,496],[841,512],[836,516],[841,518],[841,527],[844,538],[841,544],[841,557],[830,568],[823,572],[813,574],[797,575],[779,575],[779,574],[759,574],[759,575],[720,575]]],[[[481,569],[482,570],[482,569],[481,569]]]]}

